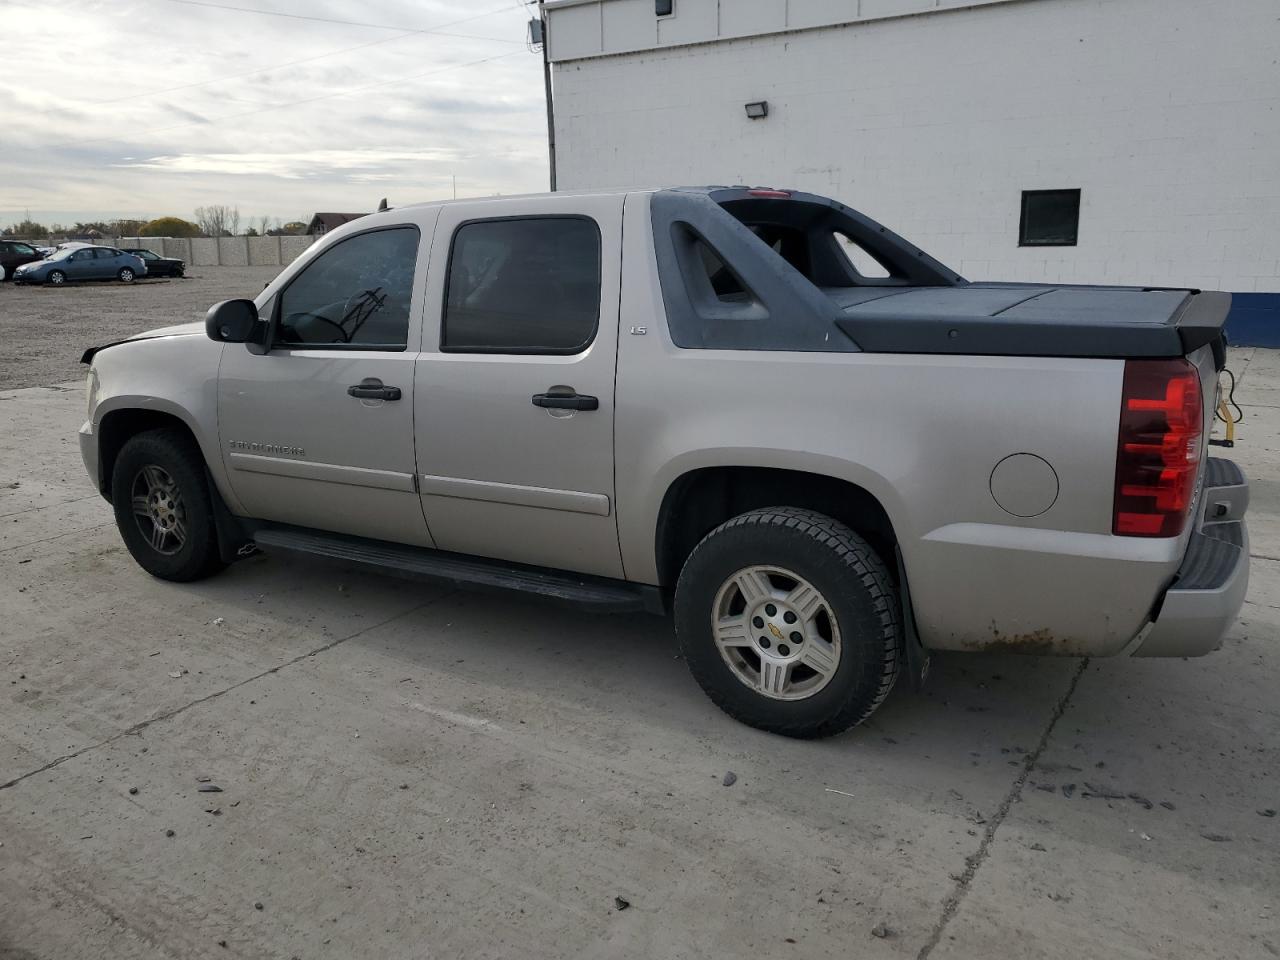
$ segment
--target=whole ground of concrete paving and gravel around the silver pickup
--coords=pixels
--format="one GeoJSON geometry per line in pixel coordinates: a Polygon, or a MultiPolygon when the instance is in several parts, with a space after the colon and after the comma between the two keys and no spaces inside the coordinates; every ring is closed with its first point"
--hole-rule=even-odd
{"type": "MultiPolygon", "coordinates": [[[[270,276],[206,273],[0,288],[8,384],[270,276]]],[[[1224,649],[940,657],[822,742],[721,714],[653,617],[274,556],[152,580],[79,383],[0,390],[0,960],[1280,956],[1280,352],[1230,362],[1224,649]]]]}

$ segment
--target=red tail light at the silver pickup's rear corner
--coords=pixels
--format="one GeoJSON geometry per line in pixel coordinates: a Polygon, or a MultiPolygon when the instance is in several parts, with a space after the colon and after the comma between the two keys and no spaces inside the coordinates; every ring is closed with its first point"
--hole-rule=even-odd
{"type": "Polygon", "coordinates": [[[1116,536],[1178,536],[1204,433],[1199,374],[1185,360],[1128,360],[1116,453],[1116,536]]]}

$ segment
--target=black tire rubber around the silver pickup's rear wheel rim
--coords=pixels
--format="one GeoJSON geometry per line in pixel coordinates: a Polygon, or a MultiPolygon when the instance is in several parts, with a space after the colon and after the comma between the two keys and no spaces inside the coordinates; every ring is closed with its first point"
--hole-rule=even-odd
{"type": "Polygon", "coordinates": [[[794,507],[751,511],[721,524],[694,548],[676,585],[676,635],[698,684],[735,719],[791,737],[840,733],[883,703],[897,680],[899,612],[893,579],[868,543],[831,517],[794,507]],[[805,699],[773,699],[748,686],[716,644],[716,598],[735,572],[753,564],[808,580],[838,625],[835,672],[805,699]]]}

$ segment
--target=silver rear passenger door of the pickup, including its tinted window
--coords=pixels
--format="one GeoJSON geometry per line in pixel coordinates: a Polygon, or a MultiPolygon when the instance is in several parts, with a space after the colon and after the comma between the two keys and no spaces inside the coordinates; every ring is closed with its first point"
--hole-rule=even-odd
{"type": "Polygon", "coordinates": [[[521,214],[440,212],[413,397],[422,508],[442,549],[621,577],[622,197],[521,214]]]}

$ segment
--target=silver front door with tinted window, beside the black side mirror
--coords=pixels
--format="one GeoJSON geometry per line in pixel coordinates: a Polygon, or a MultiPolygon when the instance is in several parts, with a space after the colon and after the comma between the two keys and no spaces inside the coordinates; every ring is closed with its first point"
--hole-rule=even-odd
{"type": "Polygon", "coordinates": [[[248,516],[433,545],[413,480],[431,216],[328,244],[260,303],[270,349],[224,348],[219,435],[248,516]]]}

